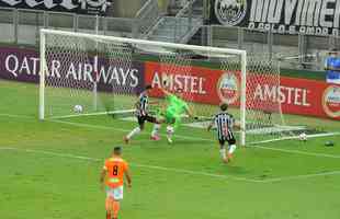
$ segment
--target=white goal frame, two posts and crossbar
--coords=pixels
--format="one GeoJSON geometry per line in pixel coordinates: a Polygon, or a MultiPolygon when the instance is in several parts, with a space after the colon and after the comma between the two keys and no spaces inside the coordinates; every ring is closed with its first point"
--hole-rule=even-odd
{"type": "Polygon", "coordinates": [[[102,41],[112,41],[118,43],[131,43],[138,45],[148,45],[148,46],[166,46],[177,49],[194,49],[208,53],[223,53],[238,55],[240,57],[241,64],[241,82],[240,82],[240,145],[246,145],[246,83],[247,83],[247,51],[241,49],[230,49],[230,48],[217,48],[211,46],[197,46],[197,45],[188,45],[188,44],[175,44],[175,43],[165,43],[165,42],[154,42],[146,39],[136,39],[136,38],[125,38],[116,36],[106,36],[98,34],[88,34],[88,33],[78,33],[78,32],[67,32],[67,31],[56,31],[42,28],[39,32],[39,106],[38,106],[38,117],[41,120],[45,119],[45,74],[46,74],[46,34],[54,34],[60,36],[73,36],[73,37],[83,37],[83,38],[97,38],[102,41]]]}

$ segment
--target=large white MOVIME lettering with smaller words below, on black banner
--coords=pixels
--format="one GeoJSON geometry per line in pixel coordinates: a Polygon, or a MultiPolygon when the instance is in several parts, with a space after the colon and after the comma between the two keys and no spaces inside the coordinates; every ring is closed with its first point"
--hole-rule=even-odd
{"type": "Polygon", "coordinates": [[[248,28],[339,35],[340,0],[251,0],[248,28]]]}

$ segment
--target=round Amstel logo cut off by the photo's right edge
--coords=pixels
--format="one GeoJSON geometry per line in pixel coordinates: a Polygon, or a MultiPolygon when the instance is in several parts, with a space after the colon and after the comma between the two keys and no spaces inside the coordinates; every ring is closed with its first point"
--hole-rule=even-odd
{"type": "Polygon", "coordinates": [[[340,117],[340,87],[330,85],[325,90],[322,107],[328,116],[340,117]]]}

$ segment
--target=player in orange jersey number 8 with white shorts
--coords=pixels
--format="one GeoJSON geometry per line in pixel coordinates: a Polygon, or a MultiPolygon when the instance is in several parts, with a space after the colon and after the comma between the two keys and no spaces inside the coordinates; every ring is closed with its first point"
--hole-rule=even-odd
{"type": "Polygon", "coordinates": [[[105,160],[101,172],[100,183],[102,189],[106,185],[106,219],[117,219],[121,207],[120,200],[123,199],[124,175],[127,180],[127,186],[132,186],[128,164],[121,155],[122,148],[115,147],[111,158],[105,160]]]}

